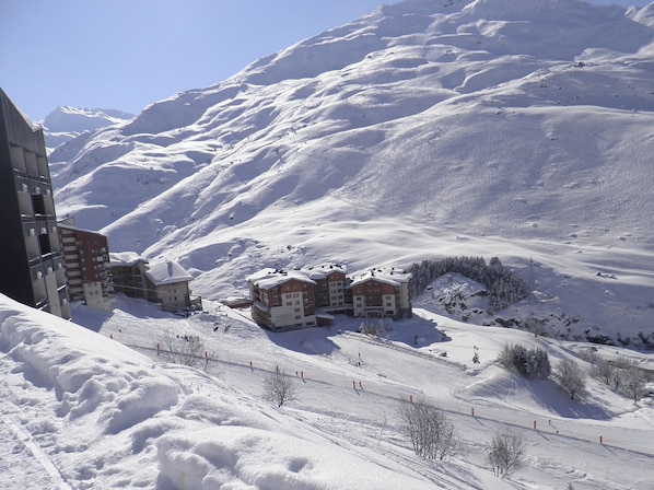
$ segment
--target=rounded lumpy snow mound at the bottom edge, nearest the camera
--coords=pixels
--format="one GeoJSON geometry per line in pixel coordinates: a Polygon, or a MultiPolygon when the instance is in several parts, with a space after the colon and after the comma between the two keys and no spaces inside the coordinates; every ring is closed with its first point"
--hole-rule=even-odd
{"type": "Polygon", "coordinates": [[[257,429],[164,435],[156,450],[162,475],[175,489],[428,488],[346,451],[257,429]]]}

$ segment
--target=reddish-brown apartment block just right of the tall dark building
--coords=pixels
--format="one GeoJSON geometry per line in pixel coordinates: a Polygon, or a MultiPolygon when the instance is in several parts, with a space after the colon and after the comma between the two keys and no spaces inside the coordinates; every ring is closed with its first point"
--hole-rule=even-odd
{"type": "Polygon", "coordinates": [[[71,301],[83,301],[101,311],[110,311],[114,304],[112,276],[107,268],[109,246],[101,233],[74,226],[72,218],[59,222],[68,293],[71,301]]]}

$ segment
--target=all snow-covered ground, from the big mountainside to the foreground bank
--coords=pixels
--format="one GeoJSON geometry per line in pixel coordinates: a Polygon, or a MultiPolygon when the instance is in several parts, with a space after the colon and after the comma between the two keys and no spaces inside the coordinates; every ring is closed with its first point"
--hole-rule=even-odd
{"type": "Polygon", "coordinates": [[[634,402],[587,377],[571,400],[497,363],[519,342],[654,370],[653,55],[654,4],[408,0],[59,145],[59,218],[178,260],[205,312],[118,295],[67,323],[0,298],[0,488],[654,489],[652,384],[634,402]],[[448,275],[387,339],[346,316],[272,334],[220,304],[265,267],[464,255],[532,295],[490,315],[448,275]],[[166,332],[201,339],[198,369],[157,355],[166,332]],[[276,366],[297,389],[281,408],[276,366]],[[410,399],[459,455],[413,454],[410,399]],[[505,429],[526,465],[502,480],[505,429]]]}

